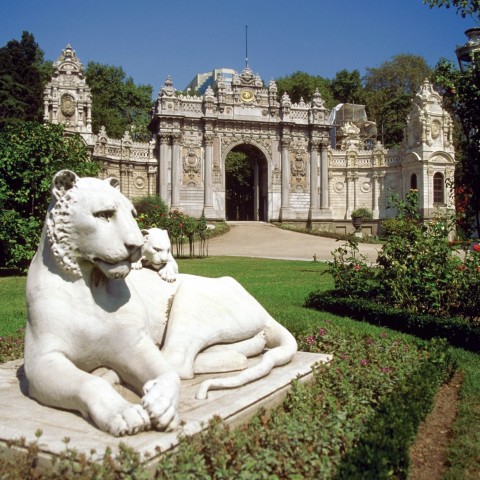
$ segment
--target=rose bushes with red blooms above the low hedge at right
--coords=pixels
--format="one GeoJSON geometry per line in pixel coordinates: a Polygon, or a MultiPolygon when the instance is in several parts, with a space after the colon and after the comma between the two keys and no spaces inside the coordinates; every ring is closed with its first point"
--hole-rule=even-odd
{"type": "Polygon", "coordinates": [[[457,218],[438,213],[423,223],[418,194],[390,199],[396,217],[382,222],[385,244],[377,266],[358,254],[356,238],[332,252],[328,273],[335,290],[346,297],[368,297],[410,312],[442,317],[480,316],[480,246],[459,252],[448,242],[457,218]]]}

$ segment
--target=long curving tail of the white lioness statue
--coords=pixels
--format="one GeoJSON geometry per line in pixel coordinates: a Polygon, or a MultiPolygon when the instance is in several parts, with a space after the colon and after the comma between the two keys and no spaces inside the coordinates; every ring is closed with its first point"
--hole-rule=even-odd
{"type": "Polygon", "coordinates": [[[212,378],[202,382],[197,390],[196,398],[204,400],[209,390],[235,388],[258,380],[268,375],[272,368],[289,363],[297,352],[297,342],[293,335],[282,325],[272,319],[266,328],[267,350],[261,361],[237,375],[224,378],[212,378]]]}

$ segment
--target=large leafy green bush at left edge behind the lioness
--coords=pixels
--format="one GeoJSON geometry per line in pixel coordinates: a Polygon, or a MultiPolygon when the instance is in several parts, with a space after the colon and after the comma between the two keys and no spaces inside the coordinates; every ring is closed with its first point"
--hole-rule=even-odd
{"type": "Polygon", "coordinates": [[[61,125],[18,121],[0,131],[0,265],[25,269],[35,253],[54,174],[96,176],[80,136],[61,125]]]}

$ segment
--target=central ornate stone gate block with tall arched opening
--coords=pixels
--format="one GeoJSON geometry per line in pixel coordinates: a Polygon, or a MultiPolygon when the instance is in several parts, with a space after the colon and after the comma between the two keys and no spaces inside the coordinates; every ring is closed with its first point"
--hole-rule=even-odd
{"type": "Polygon", "coordinates": [[[150,129],[157,139],[158,191],[172,208],[225,219],[225,160],[247,154],[254,170],[252,220],[332,218],[328,203],[330,124],[318,92],[310,104],[277,100],[249,67],[220,78],[217,92],[176,95],[171,80],[161,88],[150,129]]]}

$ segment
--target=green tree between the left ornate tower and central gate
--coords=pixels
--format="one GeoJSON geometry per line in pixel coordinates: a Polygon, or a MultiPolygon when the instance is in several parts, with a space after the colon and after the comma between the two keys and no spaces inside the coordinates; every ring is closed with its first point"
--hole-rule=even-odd
{"type": "Polygon", "coordinates": [[[109,136],[123,137],[126,130],[135,141],[148,141],[152,109],[151,85],[135,85],[122,67],[89,62],[85,71],[92,91],[92,128],[105,126],[109,136]]]}

